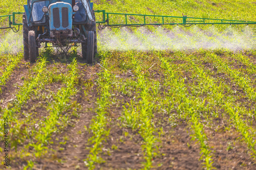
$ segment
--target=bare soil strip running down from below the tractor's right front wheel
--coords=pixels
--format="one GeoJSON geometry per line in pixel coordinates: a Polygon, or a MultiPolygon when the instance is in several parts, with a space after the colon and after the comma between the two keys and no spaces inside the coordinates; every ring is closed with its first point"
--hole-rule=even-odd
{"type": "MultiPolygon", "coordinates": [[[[96,73],[99,71],[98,65],[87,66],[78,66],[80,70],[81,82],[86,82],[92,80],[94,82],[97,79],[96,73]]],[[[79,88],[79,87],[78,87],[79,88]]],[[[55,88],[56,89],[56,88],[55,88]]],[[[88,131],[84,126],[89,127],[92,117],[95,115],[95,101],[98,98],[97,86],[93,85],[92,88],[86,89],[86,87],[80,87],[76,96],[73,97],[72,102],[77,102],[80,105],[78,109],[78,117],[72,116],[74,123],[63,130],[60,134],[53,135],[54,144],[51,145],[51,149],[56,152],[51,153],[53,161],[50,161],[49,164],[44,161],[39,161],[36,165],[41,169],[75,169],[76,167],[84,167],[84,159],[86,159],[89,154],[87,147],[87,141],[90,137],[88,131]],[[87,91],[87,96],[84,96],[84,90],[87,91]],[[68,137],[64,139],[64,137],[68,137]],[[58,138],[58,140],[57,140],[58,138]],[[61,141],[66,141],[66,144],[59,144],[61,141]],[[57,160],[61,160],[57,162],[57,160]]],[[[72,112],[72,111],[71,111],[72,112]]],[[[66,113],[67,114],[67,113],[66,113]]],[[[79,169],[80,169],[79,168],[79,169]]]]}

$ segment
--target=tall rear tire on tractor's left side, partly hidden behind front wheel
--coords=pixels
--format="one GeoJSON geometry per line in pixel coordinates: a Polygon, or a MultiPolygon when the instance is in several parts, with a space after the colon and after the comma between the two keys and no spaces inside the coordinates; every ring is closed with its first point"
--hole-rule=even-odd
{"type": "Polygon", "coordinates": [[[28,22],[25,13],[23,13],[23,56],[25,60],[29,59],[29,31],[28,22]]]}

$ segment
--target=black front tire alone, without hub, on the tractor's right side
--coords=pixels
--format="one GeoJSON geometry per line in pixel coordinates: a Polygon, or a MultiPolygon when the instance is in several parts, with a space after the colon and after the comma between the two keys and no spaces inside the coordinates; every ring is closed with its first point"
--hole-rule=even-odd
{"type": "Polygon", "coordinates": [[[88,32],[86,56],[87,56],[87,63],[92,64],[93,58],[94,58],[94,32],[93,31],[88,32]]]}

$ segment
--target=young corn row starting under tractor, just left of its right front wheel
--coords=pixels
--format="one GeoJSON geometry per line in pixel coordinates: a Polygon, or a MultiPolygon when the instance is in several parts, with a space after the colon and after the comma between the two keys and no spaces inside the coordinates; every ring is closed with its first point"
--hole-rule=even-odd
{"type": "Polygon", "coordinates": [[[53,102],[47,107],[49,116],[45,118],[44,122],[40,123],[39,131],[34,134],[36,142],[28,144],[28,146],[34,148],[36,157],[40,157],[41,153],[47,149],[46,146],[52,143],[52,134],[60,132],[61,129],[67,126],[69,116],[63,114],[63,112],[68,107],[70,97],[76,93],[75,84],[79,74],[76,59],[69,64],[68,68],[69,74],[64,81],[66,87],[60,88],[53,96],[53,102]]]}

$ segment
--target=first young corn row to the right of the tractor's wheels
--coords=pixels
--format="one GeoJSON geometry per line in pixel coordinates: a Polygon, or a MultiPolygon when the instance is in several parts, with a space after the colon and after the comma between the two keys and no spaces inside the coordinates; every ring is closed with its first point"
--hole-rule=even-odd
{"type": "Polygon", "coordinates": [[[92,136],[88,139],[88,143],[92,145],[87,155],[88,169],[94,169],[96,163],[102,163],[104,160],[99,156],[103,147],[102,143],[109,136],[110,129],[106,129],[109,120],[106,117],[107,108],[110,105],[113,75],[108,70],[108,56],[103,54],[101,60],[102,71],[99,72],[98,85],[100,97],[97,99],[97,115],[91,121],[89,131],[92,136]]]}

